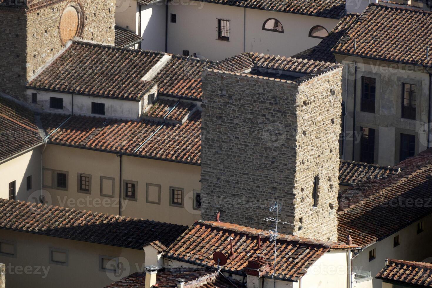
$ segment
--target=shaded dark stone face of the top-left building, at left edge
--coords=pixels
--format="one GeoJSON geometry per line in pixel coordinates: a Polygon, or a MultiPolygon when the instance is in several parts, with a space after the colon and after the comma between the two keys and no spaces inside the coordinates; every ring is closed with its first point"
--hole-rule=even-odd
{"type": "Polygon", "coordinates": [[[0,6],[0,92],[25,95],[25,10],[0,6]]]}

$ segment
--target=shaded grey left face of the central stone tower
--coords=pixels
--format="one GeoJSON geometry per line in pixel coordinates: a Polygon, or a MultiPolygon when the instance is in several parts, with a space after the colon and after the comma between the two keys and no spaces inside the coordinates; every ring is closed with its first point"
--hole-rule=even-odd
{"type": "Polygon", "coordinates": [[[201,217],[268,230],[278,199],[294,221],[297,85],[213,71],[202,82],[201,217]]]}

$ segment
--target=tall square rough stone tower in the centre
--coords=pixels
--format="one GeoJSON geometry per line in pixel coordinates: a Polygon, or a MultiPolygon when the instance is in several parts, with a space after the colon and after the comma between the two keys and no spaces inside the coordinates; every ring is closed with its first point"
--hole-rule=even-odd
{"type": "Polygon", "coordinates": [[[202,86],[203,220],[268,230],[276,199],[281,233],[336,241],[341,68],[303,82],[203,71],[202,86]]]}

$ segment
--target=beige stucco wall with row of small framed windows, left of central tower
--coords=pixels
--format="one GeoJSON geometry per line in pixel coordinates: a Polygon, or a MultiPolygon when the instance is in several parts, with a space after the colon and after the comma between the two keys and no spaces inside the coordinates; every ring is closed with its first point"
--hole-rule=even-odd
{"type": "MultiPolygon", "coordinates": [[[[200,167],[196,165],[122,156],[122,187],[123,180],[137,181],[137,201],[119,201],[120,158],[115,154],[48,144],[43,167],[52,169],[45,170],[47,175],[55,170],[68,173],[67,190],[44,187],[53,205],[118,215],[121,201],[124,216],[181,225],[200,219],[200,211],[192,208],[194,191],[201,188],[200,167]],[[91,175],[91,193],[78,192],[78,174],[83,173],[91,175]],[[101,196],[101,176],[113,178],[114,197],[101,196]],[[147,183],[160,185],[160,204],[147,203],[147,183]],[[184,189],[184,207],[170,205],[170,187],[184,189]]],[[[104,183],[106,194],[109,187],[107,181],[104,183]]]]}

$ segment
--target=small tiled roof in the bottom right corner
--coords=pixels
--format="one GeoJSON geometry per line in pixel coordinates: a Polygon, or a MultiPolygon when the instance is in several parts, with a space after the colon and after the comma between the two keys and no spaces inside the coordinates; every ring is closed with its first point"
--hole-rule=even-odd
{"type": "Polygon", "coordinates": [[[432,264],[388,259],[388,263],[376,278],[419,287],[432,287],[432,264]]]}

